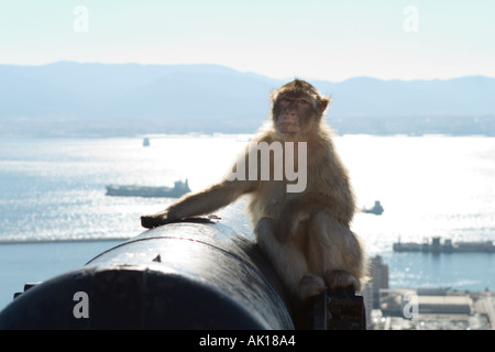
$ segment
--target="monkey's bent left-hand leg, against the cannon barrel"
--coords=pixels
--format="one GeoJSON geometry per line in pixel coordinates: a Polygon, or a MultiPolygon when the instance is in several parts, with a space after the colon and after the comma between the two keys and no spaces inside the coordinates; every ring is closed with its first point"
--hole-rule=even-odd
{"type": "Polygon", "coordinates": [[[257,243],[272,262],[293,298],[305,300],[321,293],[326,286],[321,277],[308,273],[302,250],[294,241],[280,243],[275,235],[273,219],[262,218],[255,228],[257,243]]]}

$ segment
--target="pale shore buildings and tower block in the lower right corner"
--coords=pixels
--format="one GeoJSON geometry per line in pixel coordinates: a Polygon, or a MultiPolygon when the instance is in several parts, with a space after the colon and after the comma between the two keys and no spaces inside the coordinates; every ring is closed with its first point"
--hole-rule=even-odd
{"type": "Polygon", "coordinates": [[[362,292],[366,326],[373,330],[495,330],[495,293],[388,287],[388,265],[371,261],[362,292]]]}

